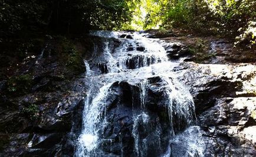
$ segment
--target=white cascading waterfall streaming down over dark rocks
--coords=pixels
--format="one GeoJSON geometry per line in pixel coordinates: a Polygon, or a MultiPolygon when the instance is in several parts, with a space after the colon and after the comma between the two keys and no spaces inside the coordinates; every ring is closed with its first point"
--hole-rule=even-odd
{"type": "Polygon", "coordinates": [[[75,156],[170,156],[172,139],[195,122],[192,96],[172,72],[179,63],[168,61],[159,40],[126,34],[91,32],[101,45],[85,61],[75,156]]]}

